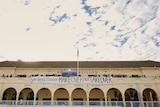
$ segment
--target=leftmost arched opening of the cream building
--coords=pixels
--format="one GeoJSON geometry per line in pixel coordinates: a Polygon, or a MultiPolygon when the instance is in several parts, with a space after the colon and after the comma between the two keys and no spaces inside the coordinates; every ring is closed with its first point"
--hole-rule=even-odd
{"type": "Polygon", "coordinates": [[[16,100],[17,92],[14,88],[8,88],[3,92],[2,100],[16,100]]]}

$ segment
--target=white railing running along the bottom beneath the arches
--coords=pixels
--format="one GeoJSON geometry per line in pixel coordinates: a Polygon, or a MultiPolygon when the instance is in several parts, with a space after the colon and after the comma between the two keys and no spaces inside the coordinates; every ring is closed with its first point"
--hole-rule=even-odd
{"type": "Polygon", "coordinates": [[[0,101],[0,107],[19,107],[19,106],[27,106],[27,107],[40,107],[40,106],[73,106],[73,107],[160,107],[159,101],[11,101],[11,100],[3,100],[0,101]]]}

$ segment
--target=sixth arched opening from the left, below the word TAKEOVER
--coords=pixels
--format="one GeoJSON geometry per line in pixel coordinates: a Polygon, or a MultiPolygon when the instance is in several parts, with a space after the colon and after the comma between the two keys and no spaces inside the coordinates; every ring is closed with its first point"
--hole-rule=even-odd
{"type": "Polygon", "coordinates": [[[101,105],[105,101],[104,93],[99,88],[93,88],[89,93],[89,104],[90,105],[101,105]]]}

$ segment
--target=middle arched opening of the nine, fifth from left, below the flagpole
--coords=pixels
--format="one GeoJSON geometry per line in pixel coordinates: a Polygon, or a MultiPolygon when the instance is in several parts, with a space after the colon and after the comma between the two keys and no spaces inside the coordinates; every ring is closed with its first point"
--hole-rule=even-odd
{"type": "Polygon", "coordinates": [[[84,105],[87,100],[87,94],[82,88],[76,88],[72,92],[73,105],[84,105]]]}

